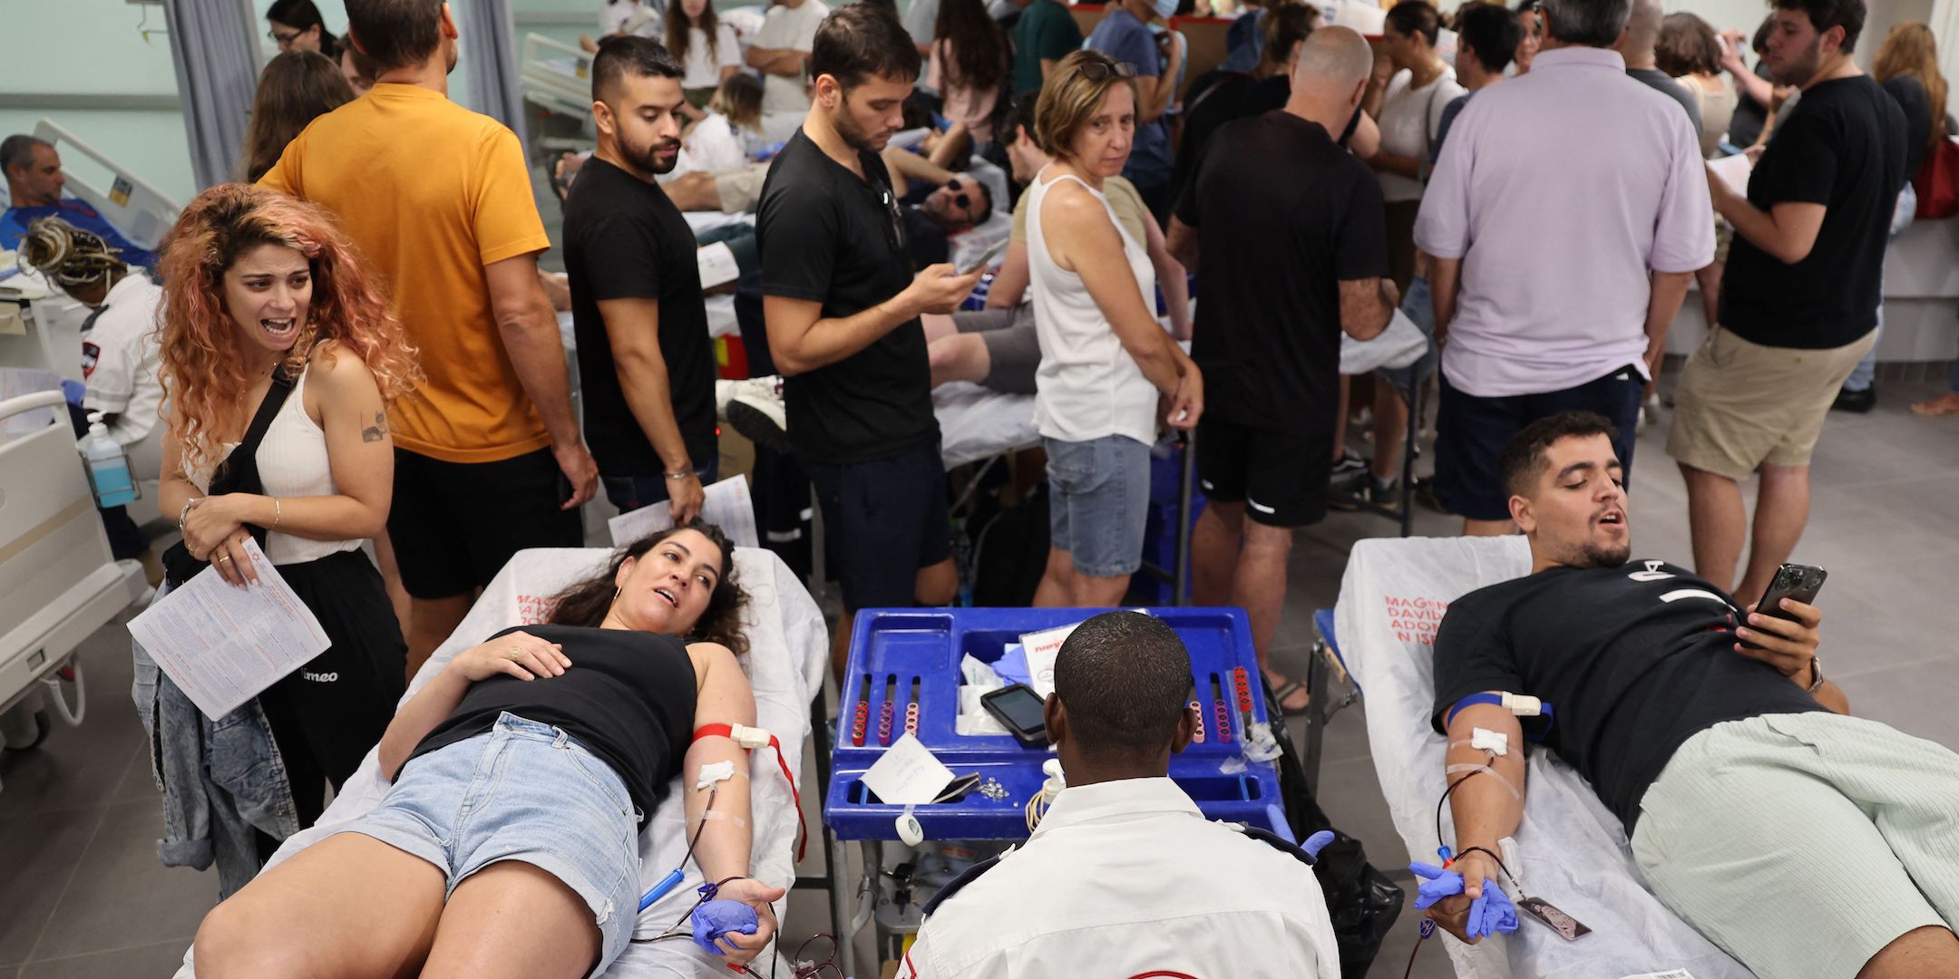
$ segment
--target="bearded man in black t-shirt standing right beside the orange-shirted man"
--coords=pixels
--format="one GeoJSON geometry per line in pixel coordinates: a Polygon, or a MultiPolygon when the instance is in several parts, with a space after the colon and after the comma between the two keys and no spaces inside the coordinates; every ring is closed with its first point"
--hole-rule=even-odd
{"type": "Polygon", "coordinates": [[[599,45],[599,145],[564,200],[586,443],[621,513],[670,501],[676,525],[701,511],[721,460],[693,231],[652,180],[680,159],[682,74],[658,41],[599,45]]]}

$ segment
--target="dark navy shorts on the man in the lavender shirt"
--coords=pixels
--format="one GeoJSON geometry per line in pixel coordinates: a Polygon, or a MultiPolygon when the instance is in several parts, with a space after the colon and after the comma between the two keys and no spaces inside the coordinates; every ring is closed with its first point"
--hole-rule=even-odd
{"type": "Polygon", "coordinates": [[[1442,403],[1436,407],[1436,497],[1457,517],[1471,521],[1510,519],[1510,493],[1503,488],[1503,446],[1538,419],[1563,411],[1597,411],[1612,421],[1618,439],[1618,462],[1632,486],[1632,446],[1640,429],[1640,396],[1646,378],[1634,366],[1618,368],[1599,380],[1548,394],[1514,394],[1506,397],[1477,397],[1442,378],[1442,403]]]}

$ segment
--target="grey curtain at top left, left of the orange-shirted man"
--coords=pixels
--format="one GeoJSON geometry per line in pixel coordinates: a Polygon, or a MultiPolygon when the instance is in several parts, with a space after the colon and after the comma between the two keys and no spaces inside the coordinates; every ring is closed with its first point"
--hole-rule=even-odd
{"type": "MultiPolygon", "coordinates": [[[[502,6],[502,4],[500,4],[502,6]]],[[[170,61],[190,137],[198,188],[237,176],[239,147],[259,86],[259,53],[247,4],[163,0],[170,22],[170,61]]]]}

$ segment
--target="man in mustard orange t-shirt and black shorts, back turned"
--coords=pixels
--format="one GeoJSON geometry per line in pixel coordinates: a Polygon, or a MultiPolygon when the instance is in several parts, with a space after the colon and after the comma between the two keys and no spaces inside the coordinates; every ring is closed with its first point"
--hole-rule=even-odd
{"type": "Polygon", "coordinates": [[[374,88],[321,116],[261,184],[333,210],[380,268],[427,380],[396,401],[394,540],[409,672],[521,548],[580,546],[597,466],[537,280],[550,247],[523,147],[449,102],[456,23],[435,0],[347,0],[374,88]]]}

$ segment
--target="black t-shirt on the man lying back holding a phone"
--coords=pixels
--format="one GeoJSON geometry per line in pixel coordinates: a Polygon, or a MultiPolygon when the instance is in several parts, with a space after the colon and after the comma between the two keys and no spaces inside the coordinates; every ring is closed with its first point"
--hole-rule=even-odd
{"type": "Polygon", "coordinates": [[[1544,746],[1591,779],[1632,836],[1640,799],[1687,738],[1722,721],[1822,711],[1734,650],[1738,615],[1722,589],[1657,560],[1481,587],[1442,617],[1434,726],[1444,732],[1471,693],[1544,699],[1544,746]]]}

